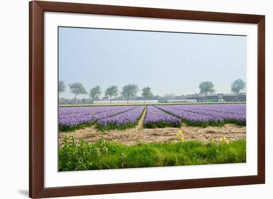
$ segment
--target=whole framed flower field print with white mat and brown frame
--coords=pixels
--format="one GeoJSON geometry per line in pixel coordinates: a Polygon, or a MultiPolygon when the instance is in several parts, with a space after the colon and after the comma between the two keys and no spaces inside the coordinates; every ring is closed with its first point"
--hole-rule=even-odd
{"type": "Polygon", "coordinates": [[[265,183],[265,16],[29,4],[31,198],[265,183]]]}

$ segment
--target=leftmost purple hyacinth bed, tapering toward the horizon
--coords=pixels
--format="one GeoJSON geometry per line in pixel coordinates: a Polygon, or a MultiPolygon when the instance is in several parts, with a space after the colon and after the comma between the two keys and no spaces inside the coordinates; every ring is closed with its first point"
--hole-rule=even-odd
{"type": "Polygon", "coordinates": [[[136,106],[62,107],[59,108],[59,126],[71,128],[82,123],[92,123],[133,108],[136,106]]]}

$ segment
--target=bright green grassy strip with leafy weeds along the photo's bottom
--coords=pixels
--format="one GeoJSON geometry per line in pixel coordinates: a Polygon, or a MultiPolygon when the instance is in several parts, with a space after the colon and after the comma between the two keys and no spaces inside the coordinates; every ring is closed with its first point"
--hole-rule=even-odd
{"type": "Polygon", "coordinates": [[[76,143],[74,137],[65,138],[59,148],[59,171],[141,168],[246,162],[246,141],[224,143],[137,144],[132,146],[84,140],[76,143]]]}

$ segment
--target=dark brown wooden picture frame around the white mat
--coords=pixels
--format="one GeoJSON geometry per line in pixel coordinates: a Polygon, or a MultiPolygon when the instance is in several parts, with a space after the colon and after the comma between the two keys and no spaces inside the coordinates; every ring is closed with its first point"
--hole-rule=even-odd
{"type": "Polygon", "coordinates": [[[29,197],[49,198],[265,183],[265,16],[84,3],[29,2],[29,197]],[[44,188],[44,11],[258,24],[258,175],[44,188]]]}

